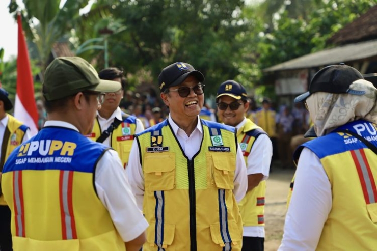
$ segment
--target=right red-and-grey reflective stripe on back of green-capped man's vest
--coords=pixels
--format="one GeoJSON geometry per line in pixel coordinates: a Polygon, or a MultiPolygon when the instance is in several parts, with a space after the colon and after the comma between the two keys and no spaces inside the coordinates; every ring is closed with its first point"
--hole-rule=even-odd
{"type": "Polygon", "coordinates": [[[60,171],[59,197],[63,240],[77,239],[72,205],[73,171],[60,171]]]}

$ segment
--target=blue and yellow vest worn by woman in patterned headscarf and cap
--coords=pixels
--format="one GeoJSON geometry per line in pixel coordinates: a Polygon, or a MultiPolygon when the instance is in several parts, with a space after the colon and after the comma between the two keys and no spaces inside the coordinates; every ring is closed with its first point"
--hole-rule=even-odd
{"type": "Polygon", "coordinates": [[[302,145],[314,152],[329,178],[332,209],[318,250],[375,250],[377,247],[377,157],[351,134],[357,132],[377,146],[377,125],[365,120],[347,123],[302,145]],[[331,146],[331,147],[324,147],[331,146]]]}

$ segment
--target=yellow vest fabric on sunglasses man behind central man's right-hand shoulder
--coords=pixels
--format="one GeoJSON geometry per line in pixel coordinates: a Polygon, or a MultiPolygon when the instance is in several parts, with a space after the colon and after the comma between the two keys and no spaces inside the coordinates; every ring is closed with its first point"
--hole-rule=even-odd
{"type": "MultiPolygon", "coordinates": [[[[241,143],[246,132],[254,130],[254,129],[262,129],[256,124],[254,124],[251,120],[247,119],[246,124],[241,127],[237,131],[237,139],[238,142],[241,143]]],[[[253,143],[255,141],[255,137],[251,137],[246,148],[246,152],[250,153],[253,143]]],[[[244,156],[246,166],[248,165],[248,157],[244,156]]],[[[264,222],[258,224],[258,215],[264,215],[264,204],[257,206],[257,198],[263,198],[266,194],[266,182],[261,181],[259,182],[258,186],[254,187],[252,190],[248,191],[239,203],[239,211],[241,213],[242,221],[244,226],[264,226],[264,222]]]]}

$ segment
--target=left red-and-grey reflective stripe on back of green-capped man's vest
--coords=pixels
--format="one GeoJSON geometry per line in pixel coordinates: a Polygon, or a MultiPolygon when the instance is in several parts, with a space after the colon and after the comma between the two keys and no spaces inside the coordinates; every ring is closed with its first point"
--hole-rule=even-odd
{"type": "Polygon", "coordinates": [[[16,236],[25,237],[25,214],[23,207],[22,171],[13,174],[13,201],[16,236]]]}

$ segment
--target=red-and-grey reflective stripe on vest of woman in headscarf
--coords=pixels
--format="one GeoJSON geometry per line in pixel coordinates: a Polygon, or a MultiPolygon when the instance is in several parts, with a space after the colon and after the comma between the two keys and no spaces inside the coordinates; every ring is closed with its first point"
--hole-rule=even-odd
{"type": "Polygon", "coordinates": [[[353,150],[351,151],[351,155],[356,164],[366,204],[376,203],[377,188],[364,149],[353,150]]]}

